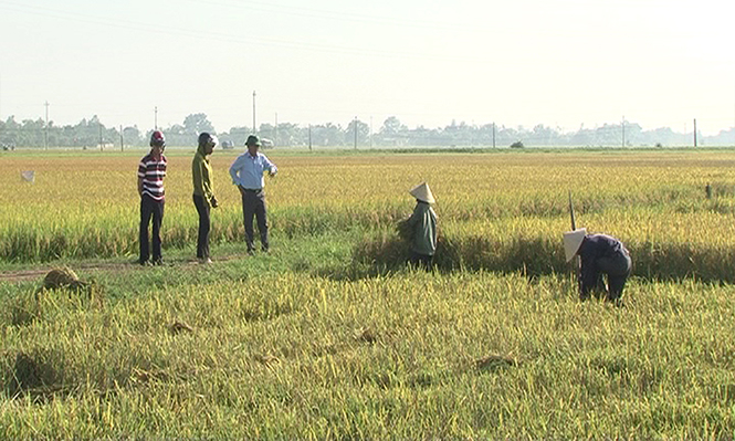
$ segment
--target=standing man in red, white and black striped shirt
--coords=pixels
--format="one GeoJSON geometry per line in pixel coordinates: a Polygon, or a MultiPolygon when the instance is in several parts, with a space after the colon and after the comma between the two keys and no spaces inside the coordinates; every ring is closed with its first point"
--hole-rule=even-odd
{"type": "Polygon", "coordinates": [[[138,165],[138,195],[140,195],[140,259],[138,263],[148,264],[148,223],[153,218],[153,264],[160,265],[160,224],[164,220],[164,178],[166,177],[166,138],[164,133],[155,130],[150,135],[150,153],[138,165]]]}

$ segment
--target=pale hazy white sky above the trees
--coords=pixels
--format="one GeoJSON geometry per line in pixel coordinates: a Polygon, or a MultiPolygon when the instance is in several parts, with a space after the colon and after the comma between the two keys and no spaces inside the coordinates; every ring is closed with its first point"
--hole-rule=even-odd
{"type": "Polygon", "coordinates": [[[0,119],[735,126],[724,0],[0,0],[0,119]],[[253,93],[255,97],[253,98],[253,93]],[[45,103],[49,103],[46,106],[45,103]]]}

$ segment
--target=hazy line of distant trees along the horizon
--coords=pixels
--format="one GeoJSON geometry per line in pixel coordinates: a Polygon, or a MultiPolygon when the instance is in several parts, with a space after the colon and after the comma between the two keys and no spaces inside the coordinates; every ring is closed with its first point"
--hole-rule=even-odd
{"type": "MultiPolygon", "coordinates": [[[[141,130],[137,126],[107,127],[95,115],[82,119],[76,125],[49,125],[43,119],[17,122],[14,116],[0,120],[0,145],[4,149],[14,147],[81,147],[81,148],[125,148],[146,147],[153,129],[141,130]]],[[[242,146],[252,129],[246,126],[231,127],[218,133],[206,114],[187,116],[181,124],[162,128],[169,146],[195,146],[201,132],[219,136],[221,143],[242,146]]],[[[346,125],[317,124],[302,126],[293,123],[261,124],[256,134],[281,147],[681,147],[693,146],[694,135],[675,133],[669,127],[643,130],[637,123],[620,122],[601,127],[580,127],[577,132],[563,132],[553,127],[536,125],[533,128],[506,127],[484,124],[469,125],[452,122],[445,127],[409,128],[396,116],[388,117],[378,130],[357,118],[346,125]]],[[[735,128],[721,130],[715,136],[697,133],[699,146],[733,146],[735,128]]]]}

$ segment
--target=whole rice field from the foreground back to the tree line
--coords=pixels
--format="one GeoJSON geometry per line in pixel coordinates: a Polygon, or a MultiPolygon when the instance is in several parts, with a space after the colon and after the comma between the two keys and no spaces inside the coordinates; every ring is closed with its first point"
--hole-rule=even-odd
{"type": "Polygon", "coordinates": [[[209,266],[188,263],[193,151],[172,150],[171,264],[139,269],[144,154],[0,155],[2,267],[88,282],[0,282],[0,438],[735,434],[733,150],[266,151],[255,258],[217,151],[209,266]],[[396,231],[424,180],[432,273],[396,231]],[[569,192],[631,251],[622,308],[577,300],[569,192]]]}

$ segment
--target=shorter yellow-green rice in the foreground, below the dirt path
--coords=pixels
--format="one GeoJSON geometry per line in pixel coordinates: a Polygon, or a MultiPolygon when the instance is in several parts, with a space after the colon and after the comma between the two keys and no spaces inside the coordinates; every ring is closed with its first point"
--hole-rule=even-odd
{"type": "Polygon", "coordinates": [[[2,435],[720,438],[735,428],[729,287],[634,279],[616,308],[580,304],[560,275],[260,269],[193,282],[200,269],[189,271],[187,283],[104,307],[54,292],[38,319],[6,322],[2,371],[21,376],[23,355],[40,381],[3,402],[2,435]],[[174,334],[178,322],[193,330],[174,334]]]}

